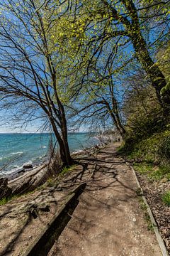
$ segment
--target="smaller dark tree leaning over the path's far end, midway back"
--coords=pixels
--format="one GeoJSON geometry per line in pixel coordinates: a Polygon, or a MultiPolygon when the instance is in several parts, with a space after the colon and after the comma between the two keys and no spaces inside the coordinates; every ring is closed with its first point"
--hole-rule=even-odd
{"type": "Polygon", "coordinates": [[[113,82],[113,74],[103,77],[101,70],[94,69],[89,72],[89,76],[84,82],[84,87],[79,93],[79,106],[74,107],[79,121],[89,119],[89,122],[94,124],[110,126],[109,119],[111,119],[113,126],[116,127],[119,134],[124,138],[126,131],[120,114],[120,93],[115,92],[115,85],[113,82]]]}

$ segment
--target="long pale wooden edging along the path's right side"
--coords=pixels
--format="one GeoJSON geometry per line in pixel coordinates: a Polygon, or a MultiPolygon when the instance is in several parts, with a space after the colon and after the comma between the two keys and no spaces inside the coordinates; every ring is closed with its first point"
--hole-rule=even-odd
{"type": "Polygon", "coordinates": [[[162,252],[162,256],[169,256],[169,253],[168,253],[168,251],[166,250],[166,246],[165,246],[165,244],[164,244],[164,240],[163,240],[163,238],[162,238],[162,235],[161,235],[160,232],[159,232],[159,228],[158,228],[158,225],[157,225],[157,223],[156,223],[156,220],[154,219],[154,215],[153,215],[153,213],[152,213],[152,210],[151,210],[151,208],[149,207],[149,204],[147,203],[147,199],[146,199],[146,197],[145,197],[144,194],[143,194],[143,190],[142,190],[142,187],[140,186],[140,182],[138,181],[138,178],[137,178],[137,175],[136,175],[136,173],[135,173],[135,170],[133,169],[132,165],[131,165],[130,163],[128,163],[127,161],[126,161],[126,164],[128,164],[128,166],[129,166],[130,169],[132,170],[132,173],[133,173],[133,175],[134,175],[134,177],[135,177],[135,181],[136,181],[136,183],[137,183],[137,186],[138,186],[138,188],[140,188],[140,190],[141,190],[141,192],[142,192],[142,196],[141,196],[141,197],[142,197],[142,199],[143,199],[145,205],[147,206],[147,213],[149,214],[150,220],[151,220],[151,222],[152,222],[152,226],[153,226],[153,229],[154,229],[154,234],[156,235],[157,242],[158,242],[159,247],[160,247],[160,250],[161,250],[161,252],[162,252]]]}

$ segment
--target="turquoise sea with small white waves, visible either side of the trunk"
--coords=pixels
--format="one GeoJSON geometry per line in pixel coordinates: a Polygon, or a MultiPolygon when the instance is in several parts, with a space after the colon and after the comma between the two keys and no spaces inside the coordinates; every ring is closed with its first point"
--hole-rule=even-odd
{"type": "MultiPolygon", "coordinates": [[[[23,164],[45,161],[50,134],[0,134],[0,174],[10,174],[23,164]]],[[[98,143],[87,133],[70,133],[70,151],[81,150],[98,143]]]]}

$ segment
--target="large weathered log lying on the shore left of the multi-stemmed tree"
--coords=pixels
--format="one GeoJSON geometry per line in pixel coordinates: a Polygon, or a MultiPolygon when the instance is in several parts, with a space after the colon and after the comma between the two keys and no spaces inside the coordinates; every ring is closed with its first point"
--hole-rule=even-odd
{"type": "Polygon", "coordinates": [[[21,194],[28,191],[33,191],[35,188],[44,183],[50,171],[48,164],[43,164],[37,168],[26,172],[25,174],[8,181],[8,187],[11,188],[12,194],[21,194]]]}

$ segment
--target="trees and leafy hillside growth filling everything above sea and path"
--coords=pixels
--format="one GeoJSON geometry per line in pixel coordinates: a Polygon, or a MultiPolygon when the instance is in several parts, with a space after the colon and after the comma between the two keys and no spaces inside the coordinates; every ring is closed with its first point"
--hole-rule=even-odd
{"type": "Polygon", "coordinates": [[[68,127],[87,124],[115,127],[124,154],[168,173],[169,4],[3,1],[1,109],[52,129],[63,167],[74,163],[68,127]]]}

